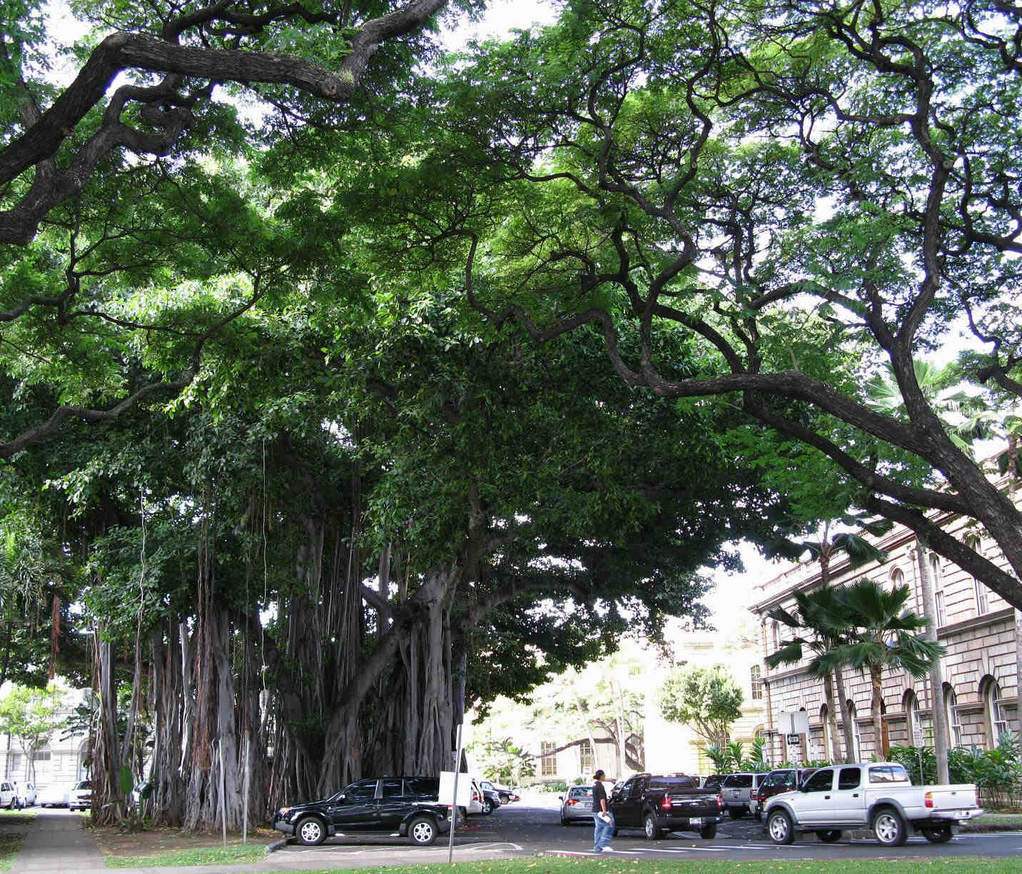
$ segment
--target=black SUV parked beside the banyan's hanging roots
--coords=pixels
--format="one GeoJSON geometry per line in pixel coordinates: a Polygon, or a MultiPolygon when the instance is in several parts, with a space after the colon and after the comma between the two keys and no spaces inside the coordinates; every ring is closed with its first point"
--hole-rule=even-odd
{"type": "Polygon", "coordinates": [[[450,823],[438,792],[435,777],[359,780],[325,800],[281,808],[273,815],[273,827],[310,846],[355,831],[397,831],[428,846],[450,823]]]}

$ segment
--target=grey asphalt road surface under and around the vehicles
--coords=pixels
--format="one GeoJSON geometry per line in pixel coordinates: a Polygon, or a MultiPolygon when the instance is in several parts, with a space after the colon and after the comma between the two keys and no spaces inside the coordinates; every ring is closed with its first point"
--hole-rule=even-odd
{"type": "MultiPolygon", "coordinates": [[[[455,835],[458,857],[478,852],[496,857],[535,856],[542,853],[592,856],[593,827],[590,822],[561,826],[556,795],[524,796],[521,801],[505,804],[489,817],[471,817],[468,825],[455,835]]],[[[434,855],[447,836],[430,847],[434,855]]],[[[822,843],[812,835],[787,846],[774,844],[751,818],[725,820],[712,840],[702,840],[686,832],[672,832],[662,840],[648,841],[639,830],[622,830],[613,841],[617,855],[633,859],[903,859],[948,858],[955,856],[1004,857],[1022,855],[1022,832],[958,834],[945,844],[931,844],[923,837],[912,836],[901,847],[885,848],[871,837],[855,837],[836,843],[822,843]]],[[[276,865],[288,859],[308,864],[312,857],[323,865],[358,864],[360,857],[399,857],[394,862],[413,864],[425,861],[426,850],[410,846],[406,840],[385,835],[358,838],[336,837],[317,847],[289,844],[274,854],[276,865]],[[407,857],[406,859],[401,859],[407,857]]],[[[432,860],[430,860],[432,861],[432,860]]]]}

